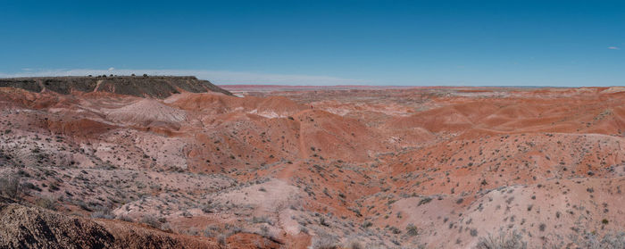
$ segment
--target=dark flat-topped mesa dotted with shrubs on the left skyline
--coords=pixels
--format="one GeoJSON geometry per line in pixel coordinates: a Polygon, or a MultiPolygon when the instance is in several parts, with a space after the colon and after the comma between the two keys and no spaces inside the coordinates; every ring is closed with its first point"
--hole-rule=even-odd
{"type": "Polygon", "coordinates": [[[110,92],[119,95],[166,98],[181,91],[191,93],[217,92],[232,95],[229,91],[212,85],[208,80],[195,77],[173,76],[112,76],[112,77],[41,77],[0,79],[0,87],[16,87],[31,92],[52,91],[69,95],[78,92],[110,92]]]}

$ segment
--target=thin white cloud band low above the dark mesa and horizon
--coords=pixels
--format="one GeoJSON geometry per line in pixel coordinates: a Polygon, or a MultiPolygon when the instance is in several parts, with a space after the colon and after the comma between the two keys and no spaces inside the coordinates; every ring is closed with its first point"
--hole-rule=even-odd
{"type": "Polygon", "coordinates": [[[270,84],[270,85],[359,85],[366,84],[362,79],[344,79],[330,76],[313,76],[298,74],[271,74],[245,71],[205,71],[205,70],[126,70],[114,69],[91,70],[39,70],[20,71],[15,73],[0,72],[0,78],[15,77],[44,77],[44,76],[86,76],[86,75],[173,75],[196,76],[198,79],[208,79],[214,84],[270,84]]]}

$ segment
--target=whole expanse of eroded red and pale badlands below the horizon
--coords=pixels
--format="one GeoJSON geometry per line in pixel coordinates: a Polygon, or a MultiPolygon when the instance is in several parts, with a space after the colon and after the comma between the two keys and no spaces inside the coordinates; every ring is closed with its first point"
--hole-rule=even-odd
{"type": "Polygon", "coordinates": [[[620,87],[38,80],[0,87],[2,248],[625,245],[620,87]]]}

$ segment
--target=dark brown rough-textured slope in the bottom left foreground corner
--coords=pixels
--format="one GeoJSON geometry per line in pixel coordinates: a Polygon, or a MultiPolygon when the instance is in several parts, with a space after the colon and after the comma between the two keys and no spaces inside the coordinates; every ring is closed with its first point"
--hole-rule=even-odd
{"type": "MultiPolygon", "coordinates": [[[[224,246],[279,244],[254,234],[232,235],[224,246]],[[246,237],[246,239],[241,239],[246,237]]],[[[0,204],[1,248],[221,248],[216,239],[176,235],[119,220],[91,220],[17,203],[0,204]]],[[[251,247],[250,247],[251,248],[251,247]]],[[[254,247],[255,248],[255,247],[254,247]]]]}

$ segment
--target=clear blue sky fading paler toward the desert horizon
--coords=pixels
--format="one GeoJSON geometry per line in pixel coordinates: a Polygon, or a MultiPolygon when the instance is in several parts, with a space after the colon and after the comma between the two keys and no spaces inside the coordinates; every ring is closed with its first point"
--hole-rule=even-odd
{"type": "Polygon", "coordinates": [[[4,1],[0,77],[620,86],[620,1],[4,1]]]}

